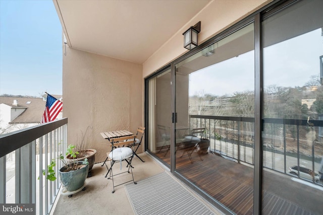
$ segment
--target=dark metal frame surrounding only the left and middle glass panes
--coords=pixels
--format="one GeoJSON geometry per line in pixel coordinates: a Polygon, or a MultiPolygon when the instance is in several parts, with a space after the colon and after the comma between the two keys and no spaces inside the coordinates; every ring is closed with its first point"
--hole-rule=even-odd
{"type": "MultiPolygon", "coordinates": [[[[261,82],[260,82],[260,78],[262,76],[260,76],[260,71],[261,70],[261,57],[257,57],[257,55],[260,55],[261,53],[261,43],[259,40],[259,36],[260,36],[260,14],[259,13],[255,13],[253,15],[250,15],[248,19],[245,19],[241,22],[239,22],[238,24],[234,25],[233,27],[227,29],[226,31],[222,32],[221,34],[213,37],[212,39],[209,39],[208,41],[204,42],[203,44],[195,47],[194,49],[188,51],[187,53],[183,54],[181,57],[177,58],[176,60],[174,60],[173,62],[171,62],[170,64],[168,64],[167,66],[158,69],[158,71],[154,74],[152,74],[151,76],[145,78],[145,126],[147,127],[148,123],[149,123],[149,119],[148,119],[148,80],[150,78],[153,78],[161,73],[163,73],[163,71],[165,71],[165,69],[168,69],[169,67],[171,67],[171,90],[172,90],[172,126],[171,126],[171,149],[170,149],[170,153],[171,153],[171,163],[170,165],[166,164],[165,162],[161,161],[160,159],[158,159],[156,156],[154,156],[153,154],[151,154],[154,158],[158,159],[158,161],[160,161],[161,163],[165,164],[166,167],[170,168],[170,172],[173,173],[177,178],[179,178],[181,181],[183,181],[187,186],[189,186],[192,190],[194,190],[195,192],[197,192],[199,195],[203,196],[203,198],[205,198],[207,201],[211,202],[213,205],[218,206],[219,209],[221,209],[224,213],[226,214],[233,214],[229,209],[227,209],[226,207],[224,207],[222,204],[220,204],[218,201],[214,200],[211,196],[209,196],[208,194],[206,194],[204,191],[202,191],[201,189],[199,189],[198,187],[196,187],[195,185],[193,185],[192,183],[190,183],[186,178],[184,178],[181,174],[179,174],[176,171],[175,168],[175,120],[176,120],[176,76],[175,76],[175,65],[181,61],[183,61],[184,59],[194,55],[195,53],[201,51],[203,48],[209,46],[212,43],[218,42],[219,40],[223,39],[224,37],[227,37],[228,35],[238,31],[239,29],[243,28],[244,26],[250,24],[250,23],[254,23],[254,31],[255,31],[255,109],[254,109],[254,116],[255,116],[255,152],[254,152],[254,156],[255,156],[255,166],[254,166],[254,214],[261,214],[261,202],[262,202],[262,198],[261,198],[261,192],[262,189],[260,187],[261,184],[261,172],[262,172],[262,148],[261,148],[261,129],[259,129],[260,125],[261,125],[261,104],[259,103],[261,100],[262,95],[258,92],[260,92],[261,89],[261,82]],[[258,19],[258,20],[257,20],[258,19]],[[256,36],[258,36],[256,38],[256,36]],[[256,129],[257,128],[257,129],[256,129]],[[261,162],[260,162],[261,161],[261,162]],[[256,171],[258,170],[258,171],[256,171]],[[260,211],[256,212],[256,211],[260,211]],[[256,212],[256,213],[255,213],[256,212]]],[[[145,133],[145,139],[147,139],[148,137],[148,132],[145,133]]],[[[145,142],[146,147],[145,149],[147,149],[147,142],[145,142]]]]}

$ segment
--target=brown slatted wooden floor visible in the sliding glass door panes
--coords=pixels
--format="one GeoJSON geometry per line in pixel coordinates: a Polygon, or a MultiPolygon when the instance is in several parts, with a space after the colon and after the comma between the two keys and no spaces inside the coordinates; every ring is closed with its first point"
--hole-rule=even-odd
{"type": "MultiPolygon", "coordinates": [[[[167,149],[162,149],[156,155],[165,162],[170,162],[170,152],[167,149]]],[[[243,164],[224,159],[223,157],[207,153],[201,155],[203,161],[200,160],[197,152],[192,153],[193,163],[191,163],[188,155],[184,153],[183,149],[179,149],[176,154],[176,171],[182,174],[185,178],[193,184],[201,188],[203,191],[211,195],[214,199],[225,205],[236,214],[252,214],[253,213],[253,168],[243,164]]],[[[267,174],[266,180],[272,180],[273,183],[287,183],[281,186],[287,192],[294,189],[290,177],[287,179],[277,180],[280,177],[275,174],[267,174]],[[276,182],[275,182],[276,181],[276,182]]],[[[271,182],[268,182],[271,183],[271,182]]],[[[280,187],[280,186],[279,186],[280,187]]],[[[303,205],[303,202],[297,202],[297,198],[288,197],[288,200],[280,197],[282,190],[270,188],[270,191],[263,191],[263,212],[264,214],[319,214],[322,211],[320,208],[313,208],[308,205],[308,208],[298,206],[303,205]],[[292,202],[294,200],[296,202],[292,202]],[[314,212],[313,212],[314,211],[314,212]]],[[[304,187],[308,191],[308,187],[304,187]]],[[[304,191],[304,190],[303,190],[304,191]]],[[[297,195],[293,192],[293,195],[297,195]]],[[[290,194],[290,193],[288,193],[290,194]]],[[[302,195],[302,191],[299,191],[302,195]]],[[[284,196],[284,194],[282,194],[284,196]]],[[[317,196],[321,197],[320,194],[317,196]]],[[[309,197],[313,198],[313,197],[309,197]]],[[[318,200],[317,203],[319,203],[318,200]]],[[[319,203],[319,205],[321,205],[319,203]]]]}

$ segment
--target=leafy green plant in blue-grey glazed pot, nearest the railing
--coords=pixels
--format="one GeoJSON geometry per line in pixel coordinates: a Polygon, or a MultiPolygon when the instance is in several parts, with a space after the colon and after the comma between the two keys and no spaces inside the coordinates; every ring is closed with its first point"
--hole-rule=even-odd
{"type": "MultiPolygon", "coordinates": [[[[66,189],[70,194],[84,187],[85,179],[89,171],[89,163],[87,159],[79,161],[77,155],[79,152],[74,151],[75,146],[69,145],[66,155],[71,155],[73,162],[67,163],[64,159],[65,157],[61,154],[58,160],[61,160],[64,166],[59,170],[59,175],[64,189],[66,189]]],[[[50,181],[55,181],[57,179],[55,166],[56,159],[52,159],[50,164],[47,166],[47,175],[46,171],[42,170],[42,174],[46,175],[46,179],[50,181]]],[[[39,179],[39,178],[38,178],[39,179]]]]}

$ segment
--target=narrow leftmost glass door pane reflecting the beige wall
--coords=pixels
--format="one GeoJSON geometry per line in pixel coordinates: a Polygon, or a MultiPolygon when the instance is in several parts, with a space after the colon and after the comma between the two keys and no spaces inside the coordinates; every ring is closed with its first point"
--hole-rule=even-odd
{"type": "Polygon", "coordinates": [[[171,69],[148,81],[148,151],[170,165],[171,69]]]}

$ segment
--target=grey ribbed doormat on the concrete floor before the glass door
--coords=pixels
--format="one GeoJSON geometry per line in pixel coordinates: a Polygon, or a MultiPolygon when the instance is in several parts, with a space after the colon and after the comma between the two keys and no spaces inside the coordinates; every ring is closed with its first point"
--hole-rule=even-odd
{"type": "Polygon", "coordinates": [[[167,172],[126,184],[125,188],[138,215],[214,214],[167,172]]]}

